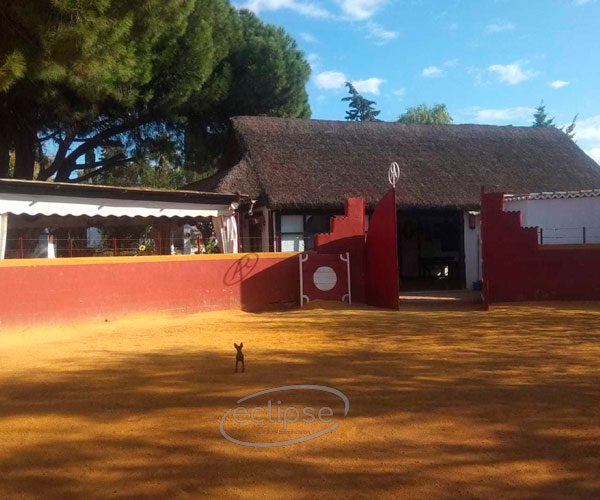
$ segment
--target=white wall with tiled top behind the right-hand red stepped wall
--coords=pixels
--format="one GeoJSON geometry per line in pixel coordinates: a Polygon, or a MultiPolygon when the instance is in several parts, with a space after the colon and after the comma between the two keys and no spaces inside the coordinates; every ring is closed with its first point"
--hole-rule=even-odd
{"type": "Polygon", "coordinates": [[[600,243],[600,196],[549,200],[506,199],[506,211],[520,211],[524,227],[543,228],[544,244],[600,243]]]}

